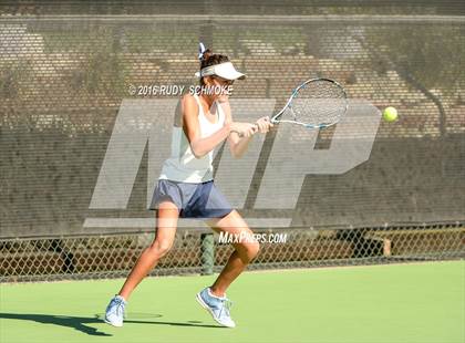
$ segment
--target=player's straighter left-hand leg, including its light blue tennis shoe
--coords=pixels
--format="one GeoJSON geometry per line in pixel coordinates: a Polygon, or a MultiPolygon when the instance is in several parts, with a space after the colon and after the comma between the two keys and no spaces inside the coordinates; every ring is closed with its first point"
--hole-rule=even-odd
{"type": "Polygon", "coordinates": [[[155,239],[141,253],[120,293],[110,301],[105,311],[105,322],[108,324],[114,326],[123,325],[124,309],[131,293],[173,246],[179,216],[176,205],[170,201],[163,201],[159,204],[156,214],[157,229],[155,239]]]}

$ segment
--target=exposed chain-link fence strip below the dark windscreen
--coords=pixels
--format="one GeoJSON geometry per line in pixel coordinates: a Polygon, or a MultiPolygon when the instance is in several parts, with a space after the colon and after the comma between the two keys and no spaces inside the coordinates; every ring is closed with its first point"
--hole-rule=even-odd
{"type": "MultiPolygon", "coordinates": [[[[249,270],[355,266],[465,258],[464,222],[382,228],[258,229],[260,243],[249,270]]],[[[183,229],[152,276],[210,274],[231,245],[203,229],[183,229]]],[[[50,281],[125,277],[154,232],[95,235],[0,242],[0,281],[50,281]]]]}

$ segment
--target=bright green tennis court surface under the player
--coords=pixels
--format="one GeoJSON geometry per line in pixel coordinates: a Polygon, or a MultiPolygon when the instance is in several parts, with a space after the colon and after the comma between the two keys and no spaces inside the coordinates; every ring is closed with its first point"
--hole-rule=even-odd
{"type": "Polygon", "coordinates": [[[146,279],[121,329],[101,321],[122,280],[1,285],[1,342],[464,342],[465,262],[245,273],[236,329],[195,301],[214,277],[146,279]]]}

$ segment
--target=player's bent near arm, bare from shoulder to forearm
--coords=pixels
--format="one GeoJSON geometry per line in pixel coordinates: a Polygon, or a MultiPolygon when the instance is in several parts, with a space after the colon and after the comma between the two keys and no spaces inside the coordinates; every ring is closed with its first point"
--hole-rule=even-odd
{"type": "Polygon", "coordinates": [[[208,137],[200,137],[198,123],[198,105],[189,94],[182,100],[183,129],[190,144],[190,149],[197,158],[202,158],[211,152],[219,143],[225,141],[231,132],[231,123],[225,124],[220,129],[208,137]]]}

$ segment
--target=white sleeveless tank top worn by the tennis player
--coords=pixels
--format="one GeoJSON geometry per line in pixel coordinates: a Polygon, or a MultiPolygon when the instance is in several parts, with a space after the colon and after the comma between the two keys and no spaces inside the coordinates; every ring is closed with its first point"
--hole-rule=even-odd
{"type": "MultiPolygon", "coordinates": [[[[216,123],[213,124],[206,118],[197,94],[194,94],[194,98],[198,105],[200,137],[211,136],[215,132],[220,129],[225,123],[225,113],[223,112],[221,105],[218,102],[211,104],[211,107],[216,107],[215,114],[217,117],[216,123]]],[[[196,158],[190,149],[189,141],[187,139],[183,127],[174,126],[172,154],[163,164],[158,179],[194,184],[213,180],[213,154],[214,152],[211,150],[207,155],[196,158]]]]}

